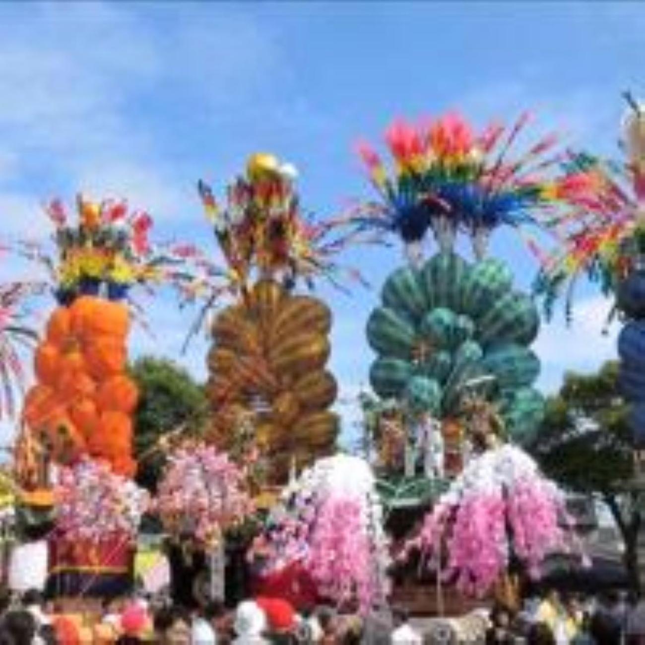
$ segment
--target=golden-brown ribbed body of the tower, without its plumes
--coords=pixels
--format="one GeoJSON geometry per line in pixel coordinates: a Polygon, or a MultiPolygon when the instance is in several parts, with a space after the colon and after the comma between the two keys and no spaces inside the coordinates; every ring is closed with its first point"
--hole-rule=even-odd
{"type": "Polygon", "coordinates": [[[329,408],[337,386],[325,369],[331,324],[321,301],[271,280],[259,281],[213,323],[213,439],[226,448],[235,419],[254,413],[273,481],[286,479],[293,459],[303,466],[334,450],[338,419],[329,408]]]}

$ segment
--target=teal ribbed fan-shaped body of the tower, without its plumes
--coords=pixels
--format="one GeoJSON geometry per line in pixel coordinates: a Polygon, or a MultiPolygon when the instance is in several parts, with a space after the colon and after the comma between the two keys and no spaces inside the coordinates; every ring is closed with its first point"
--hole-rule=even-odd
{"type": "Polygon", "coordinates": [[[533,387],[540,362],[529,347],[539,315],[513,289],[506,264],[437,253],[419,269],[395,270],[381,301],[367,324],[377,353],[370,383],[379,397],[450,419],[476,394],[495,404],[510,437],[531,437],[544,409],[533,387]]]}

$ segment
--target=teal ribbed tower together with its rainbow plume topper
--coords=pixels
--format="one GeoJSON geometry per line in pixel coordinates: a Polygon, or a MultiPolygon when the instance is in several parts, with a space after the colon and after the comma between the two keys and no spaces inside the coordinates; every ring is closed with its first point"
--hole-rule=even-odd
{"type": "Polygon", "coordinates": [[[385,135],[392,167],[359,146],[379,200],[360,204],[356,215],[399,235],[409,260],[386,279],[367,324],[377,353],[370,382],[413,423],[424,415],[441,422],[446,437],[488,417],[525,441],[544,413],[535,389],[540,362],[530,349],[539,313],[513,287],[510,266],[487,257],[493,230],[519,229],[562,206],[561,177],[547,171],[557,167],[557,137],[517,152],[529,121],[522,114],[508,126],[477,130],[459,114],[420,124],[398,119],[385,135]],[[439,252],[424,261],[428,232],[439,252]],[[455,252],[462,233],[473,263],[455,252]]]}

